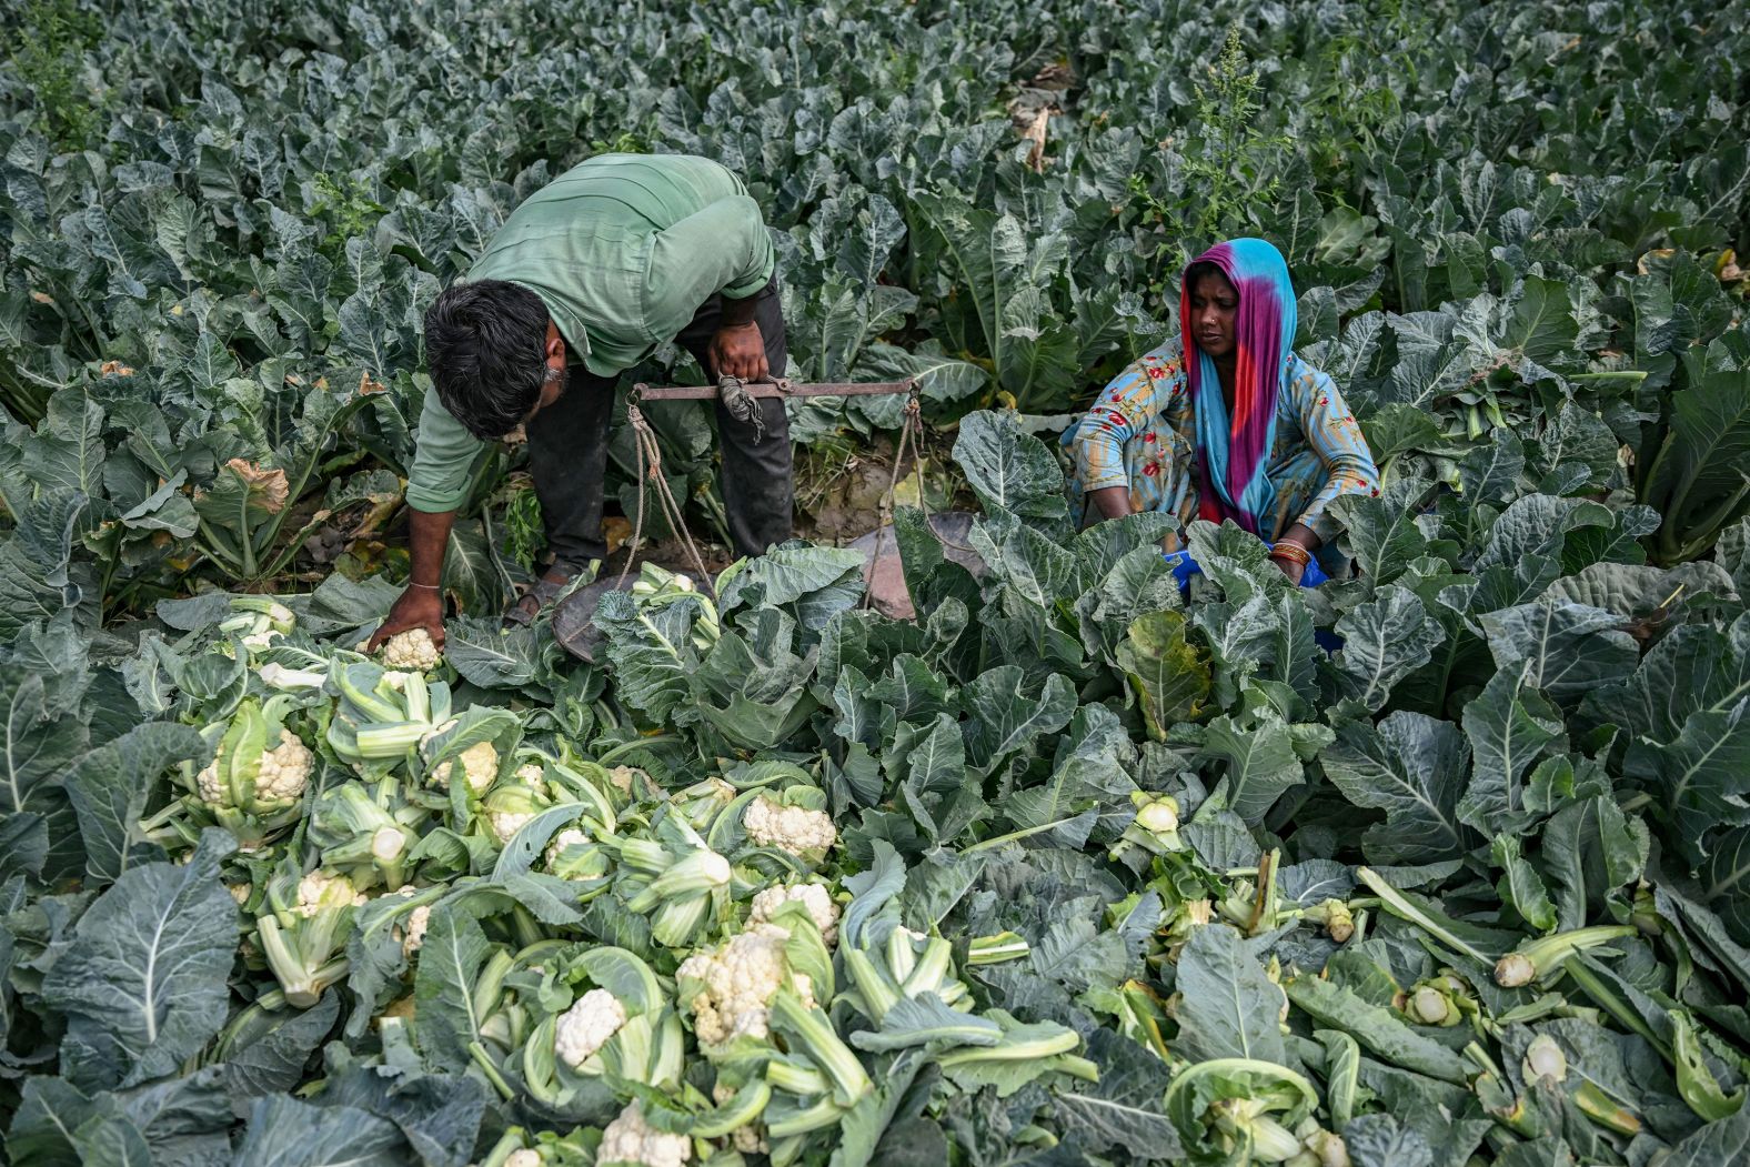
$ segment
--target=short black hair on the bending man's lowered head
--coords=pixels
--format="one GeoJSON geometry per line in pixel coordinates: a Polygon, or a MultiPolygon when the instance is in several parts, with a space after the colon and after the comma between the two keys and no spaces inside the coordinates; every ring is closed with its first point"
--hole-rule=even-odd
{"type": "Polygon", "coordinates": [[[504,280],[446,287],[425,310],[425,359],[438,401],[474,437],[504,437],[541,399],[548,310],[504,280]]]}

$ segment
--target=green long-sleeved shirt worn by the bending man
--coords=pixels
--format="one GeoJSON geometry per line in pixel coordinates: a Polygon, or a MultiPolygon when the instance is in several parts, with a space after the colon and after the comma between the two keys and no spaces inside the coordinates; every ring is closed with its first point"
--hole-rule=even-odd
{"type": "MultiPolygon", "coordinates": [[[[511,212],[467,278],[527,287],[570,357],[616,376],[674,339],[714,294],[756,294],[774,264],[760,205],[718,163],[600,154],[511,212]]],[[[425,394],[408,506],[457,509],[480,446],[436,392],[425,394]]]]}

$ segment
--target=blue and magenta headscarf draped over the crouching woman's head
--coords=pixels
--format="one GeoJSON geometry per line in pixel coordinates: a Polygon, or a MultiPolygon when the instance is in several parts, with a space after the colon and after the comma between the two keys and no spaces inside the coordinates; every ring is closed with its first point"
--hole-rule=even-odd
{"type": "Polygon", "coordinates": [[[1295,339],[1295,289],[1283,254],[1264,240],[1228,240],[1192,262],[1214,264],[1239,289],[1232,418],[1222,401],[1214,360],[1192,336],[1188,280],[1180,292],[1185,374],[1197,411],[1199,514],[1214,523],[1230,518],[1258,534],[1260,521],[1276,509],[1276,488],[1265,471],[1276,443],[1276,402],[1284,390],[1288,350],[1295,339]]]}

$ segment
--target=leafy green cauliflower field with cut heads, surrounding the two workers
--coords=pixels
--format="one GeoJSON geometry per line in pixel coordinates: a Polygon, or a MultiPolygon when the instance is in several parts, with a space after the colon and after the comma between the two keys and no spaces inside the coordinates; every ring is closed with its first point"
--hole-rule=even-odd
{"type": "MultiPolygon", "coordinates": [[[[0,16],[5,1157],[1750,1160],[1750,30],[1225,16],[0,16]],[[798,542],[611,595],[595,665],[500,633],[508,444],[443,661],[354,651],[420,315],[600,150],[747,178],[793,378],[920,380],[980,518],[973,572],[900,509],[917,621],[798,542]],[[1384,490],[1351,577],[1199,523],[1181,598],[1055,436],[1234,234],[1384,490]]],[[[653,416],[710,535],[709,415],[653,416]]]]}

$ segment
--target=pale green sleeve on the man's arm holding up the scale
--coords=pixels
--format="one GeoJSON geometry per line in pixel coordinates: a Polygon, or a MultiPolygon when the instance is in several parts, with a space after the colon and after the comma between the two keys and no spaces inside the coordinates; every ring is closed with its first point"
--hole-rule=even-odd
{"type": "Polygon", "coordinates": [[[648,339],[672,339],[719,292],[730,299],[754,296],[775,268],[765,215],[746,194],[718,199],[658,231],[644,276],[648,339]]]}

